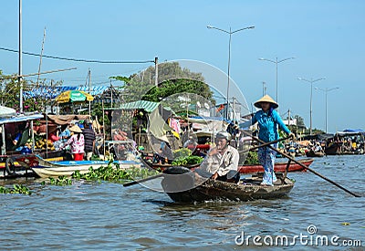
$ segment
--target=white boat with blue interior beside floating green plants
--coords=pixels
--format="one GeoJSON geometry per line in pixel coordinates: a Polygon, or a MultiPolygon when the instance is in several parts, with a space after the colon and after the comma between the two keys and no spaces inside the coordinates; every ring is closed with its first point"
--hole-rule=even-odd
{"type": "MultiPolygon", "coordinates": [[[[33,170],[41,178],[71,176],[75,171],[80,173],[89,173],[89,168],[98,169],[107,166],[108,161],[63,161],[49,162],[38,155],[24,155],[16,158],[16,162],[33,170]]],[[[119,164],[120,168],[128,169],[130,167],[141,167],[141,162],[133,161],[114,161],[119,164]]]]}

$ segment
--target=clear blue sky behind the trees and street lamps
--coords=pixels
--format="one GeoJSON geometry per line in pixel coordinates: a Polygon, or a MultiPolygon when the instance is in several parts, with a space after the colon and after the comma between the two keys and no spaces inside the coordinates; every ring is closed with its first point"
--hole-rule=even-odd
{"type": "MultiPolygon", "coordinates": [[[[18,48],[18,1],[3,1],[0,47],[18,48]]],[[[227,71],[227,34],[206,26],[233,30],[231,78],[247,103],[263,93],[276,98],[278,60],[280,113],[291,110],[309,126],[310,84],[302,78],[326,78],[314,87],[328,92],[328,131],[365,129],[361,113],[365,79],[365,1],[26,1],[23,0],[23,51],[99,60],[193,59],[227,71]]],[[[0,50],[0,69],[17,72],[16,53],[0,50]]],[[[23,73],[37,72],[39,58],[24,56],[23,73]]],[[[78,69],[44,75],[65,85],[108,84],[110,76],[130,76],[152,64],[100,65],[43,58],[42,71],[78,69]]],[[[30,78],[31,79],[31,78],[30,78]]],[[[224,85],[226,83],[223,83],[224,85]]],[[[313,89],[313,127],[325,129],[325,94],[313,89]]]]}

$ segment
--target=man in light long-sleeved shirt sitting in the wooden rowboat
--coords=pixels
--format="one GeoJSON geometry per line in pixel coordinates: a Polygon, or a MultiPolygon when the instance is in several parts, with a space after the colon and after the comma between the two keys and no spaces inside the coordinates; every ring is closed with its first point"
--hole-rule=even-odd
{"type": "Polygon", "coordinates": [[[203,171],[213,173],[212,179],[238,183],[240,174],[237,172],[239,154],[238,151],[229,145],[231,134],[227,131],[219,131],[215,135],[216,146],[207,153],[200,168],[203,171]]]}

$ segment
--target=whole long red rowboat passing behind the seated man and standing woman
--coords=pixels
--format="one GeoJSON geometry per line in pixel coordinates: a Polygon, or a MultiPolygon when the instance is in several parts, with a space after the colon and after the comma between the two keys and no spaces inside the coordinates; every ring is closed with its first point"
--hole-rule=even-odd
{"type": "MultiPolygon", "coordinates": [[[[152,163],[148,160],[144,160],[143,158],[141,158],[141,159],[143,160],[142,161],[143,164],[147,165],[151,169],[164,171],[167,168],[172,167],[171,164],[158,164],[158,163],[152,163]]],[[[314,159],[298,160],[298,162],[301,162],[306,166],[309,166],[313,161],[314,161],[314,159]]],[[[194,165],[185,166],[185,167],[193,170],[194,168],[197,168],[198,166],[199,166],[199,164],[194,164],[194,165]]],[[[287,168],[287,162],[276,162],[275,163],[275,172],[284,173],[286,168],[287,168]]],[[[264,172],[264,168],[260,164],[240,165],[240,166],[238,166],[238,171],[239,171],[239,173],[258,173],[258,172],[264,172]]],[[[296,162],[291,162],[289,165],[288,172],[306,172],[306,171],[307,171],[307,169],[305,169],[303,166],[297,164],[296,162]]]]}

